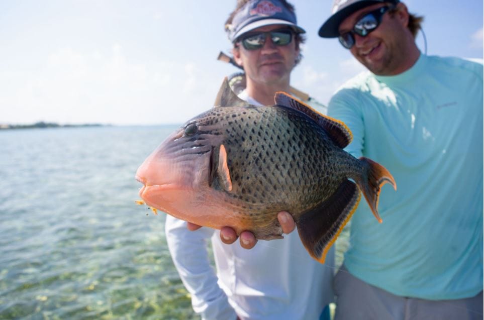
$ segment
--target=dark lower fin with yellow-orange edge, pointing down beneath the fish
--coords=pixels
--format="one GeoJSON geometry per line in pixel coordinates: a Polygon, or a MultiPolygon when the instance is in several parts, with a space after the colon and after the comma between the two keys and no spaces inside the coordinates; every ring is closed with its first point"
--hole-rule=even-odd
{"type": "Polygon", "coordinates": [[[324,263],[329,248],[350,220],[359,200],[358,187],[346,180],[329,198],[303,212],[296,221],[299,237],[314,259],[324,263]]]}

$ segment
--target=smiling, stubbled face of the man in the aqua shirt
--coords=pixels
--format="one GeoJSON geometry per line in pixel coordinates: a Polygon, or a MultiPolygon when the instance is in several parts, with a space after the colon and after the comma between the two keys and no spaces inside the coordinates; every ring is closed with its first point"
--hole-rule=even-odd
{"type": "MultiPolygon", "coordinates": [[[[352,30],[362,17],[384,6],[368,6],[348,16],[339,26],[340,34],[352,30]]],[[[408,21],[407,7],[399,3],[394,11],[382,16],[380,25],[366,37],[353,35],[355,44],[350,48],[351,54],[374,74],[396,75],[404,72],[419,56],[415,40],[407,28],[408,21]]]]}

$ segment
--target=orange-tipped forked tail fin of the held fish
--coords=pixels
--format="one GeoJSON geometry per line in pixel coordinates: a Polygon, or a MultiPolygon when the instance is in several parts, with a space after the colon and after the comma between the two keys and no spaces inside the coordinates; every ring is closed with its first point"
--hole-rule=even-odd
{"type": "Polygon", "coordinates": [[[397,190],[397,183],[392,174],[382,165],[365,157],[361,157],[359,160],[363,164],[365,170],[363,170],[363,174],[356,182],[363,192],[376,220],[378,220],[379,223],[382,223],[382,220],[378,215],[378,197],[381,187],[385,183],[390,183],[393,188],[397,190]]]}

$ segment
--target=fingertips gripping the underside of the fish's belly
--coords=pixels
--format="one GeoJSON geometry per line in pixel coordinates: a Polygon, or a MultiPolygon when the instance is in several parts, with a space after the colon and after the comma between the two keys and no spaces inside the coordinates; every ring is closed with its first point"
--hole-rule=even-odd
{"type": "MultiPolygon", "coordinates": [[[[289,212],[280,211],[277,214],[277,220],[279,221],[284,234],[289,234],[296,229],[296,223],[289,212]]],[[[195,231],[202,228],[202,226],[188,222],[186,228],[190,231],[195,231]]],[[[235,230],[230,227],[222,227],[220,229],[220,240],[222,240],[223,243],[230,245],[237,241],[237,238],[240,239],[240,246],[244,249],[252,249],[257,243],[257,239],[250,231],[243,231],[239,237],[235,230]]]]}

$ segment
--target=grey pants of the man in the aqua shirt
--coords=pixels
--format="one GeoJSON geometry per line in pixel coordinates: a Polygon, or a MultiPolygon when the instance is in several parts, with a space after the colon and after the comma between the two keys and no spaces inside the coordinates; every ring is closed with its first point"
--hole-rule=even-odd
{"type": "Polygon", "coordinates": [[[394,295],[351,275],[344,266],[334,278],[335,320],[482,319],[482,291],[457,300],[425,300],[394,295]]]}

